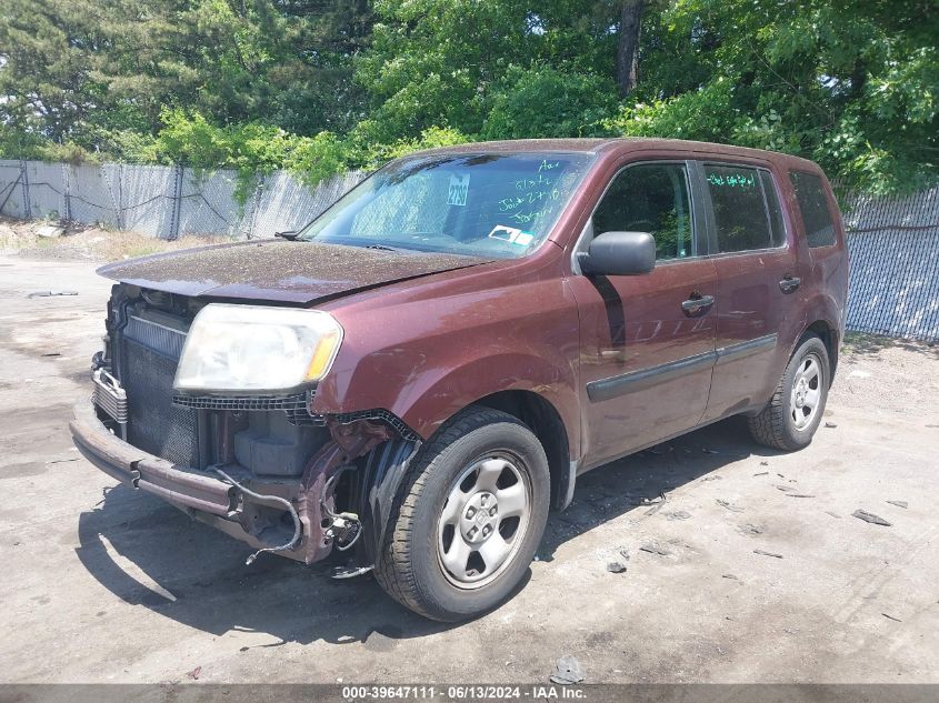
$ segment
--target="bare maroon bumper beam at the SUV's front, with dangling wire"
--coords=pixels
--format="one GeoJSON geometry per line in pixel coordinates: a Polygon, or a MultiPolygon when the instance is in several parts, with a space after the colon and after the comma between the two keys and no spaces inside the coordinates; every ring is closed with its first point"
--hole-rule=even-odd
{"type": "Polygon", "coordinates": [[[163,499],[256,550],[277,551],[310,564],[332,549],[323,528],[322,496],[329,475],[339,468],[340,452],[321,452],[311,471],[296,480],[261,482],[248,476],[242,481],[238,466],[224,466],[226,478],[231,473],[237,476],[236,483],[178,466],[124,442],[104,426],[88,401],[74,406],[69,429],[81,454],[104,473],[163,499]]]}

